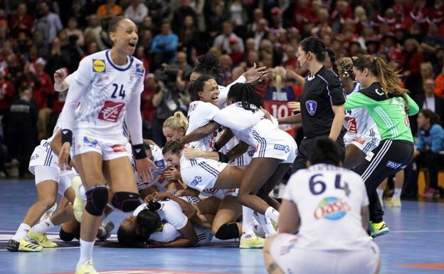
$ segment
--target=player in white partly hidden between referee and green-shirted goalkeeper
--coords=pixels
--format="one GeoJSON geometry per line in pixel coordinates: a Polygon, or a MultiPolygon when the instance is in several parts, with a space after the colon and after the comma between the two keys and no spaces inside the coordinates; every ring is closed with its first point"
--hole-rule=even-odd
{"type": "MultiPolygon", "coordinates": [[[[361,90],[359,82],[354,81],[353,60],[343,57],[339,58],[336,64],[347,98],[361,90]]],[[[344,127],[347,129],[344,135],[344,167],[351,169],[363,162],[366,156],[371,157],[371,151],[378,146],[381,137],[365,107],[346,110],[344,127]]]]}

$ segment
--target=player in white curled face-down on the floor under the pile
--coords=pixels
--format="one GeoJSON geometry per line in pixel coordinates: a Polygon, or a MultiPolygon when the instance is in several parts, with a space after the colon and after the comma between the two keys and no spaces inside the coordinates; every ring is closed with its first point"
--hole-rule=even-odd
{"type": "Polygon", "coordinates": [[[190,221],[195,216],[196,209],[191,204],[170,193],[155,193],[145,201],[148,202],[137,207],[132,216],[125,218],[120,224],[117,231],[120,243],[134,246],[140,242],[156,241],[153,244],[162,247],[195,246],[198,243],[194,225],[190,221]],[[169,227],[166,228],[167,231],[163,231],[166,223],[175,231],[169,227]]]}

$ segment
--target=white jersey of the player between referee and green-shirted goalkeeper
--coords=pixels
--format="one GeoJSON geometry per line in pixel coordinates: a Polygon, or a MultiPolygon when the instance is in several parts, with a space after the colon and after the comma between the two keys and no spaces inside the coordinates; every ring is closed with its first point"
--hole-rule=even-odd
{"type": "MultiPolygon", "coordinates": [[[[347,98],[359,90],[361,90],[361,85],[358,82],[354,82],[354,89],[347,95],[347,98]]],[[[365,107],[346,110],[344,127],[347,129],[347,133],[344,136],[346,145],[351,142],[359,142],[363,145],[362,150],[364,153],[377,147],[381,140],[376,124],[365,107]]]]}

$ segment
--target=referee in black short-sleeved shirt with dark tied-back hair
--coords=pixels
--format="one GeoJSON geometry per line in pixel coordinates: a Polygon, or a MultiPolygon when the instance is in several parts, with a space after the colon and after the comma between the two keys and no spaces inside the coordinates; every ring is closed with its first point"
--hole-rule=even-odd
{"type": "MultiPolygon", "coordinates": [[[[308,37],[297,48],[298,61],[310,71],[300,96],[300,114],[279,120],[280,123],[296,123],[302,119],[304,139],[298,147],[292,173],[305,169],[315,137],[328,136],[339,144],[341,160],[345,157],[344,89],[341,79],[325,68],[326,48],[319,38],[308,37]]],[[[334,60],[332,60],[334,62],[334,60]]]]}

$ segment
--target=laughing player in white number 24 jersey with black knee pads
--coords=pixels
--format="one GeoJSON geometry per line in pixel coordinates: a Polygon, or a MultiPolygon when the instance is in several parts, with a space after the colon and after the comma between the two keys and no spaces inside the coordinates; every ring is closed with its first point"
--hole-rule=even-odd
{"type": "Polygon", "coordinates": [[[62,115],[59,164],[60,167],[68,164],[73,142],[73,160],[88,198],[80,229],[76,274],[97,273],[92,251],[100,216],[108,200],[104,175],[110,178],[114,193],[112,205],[116,209],[132,211],[139,206],[139,194],[125,149],[127,137],[122,132],[124,117],[139,175],[149,181],[149,167],[153,165],[143,147],[139,112],[144,67],[142,61],[132,57],[138,40],[137,26],[122,17],[108,17],[102,23],[113,46],[80,61],[62,115]]]}

